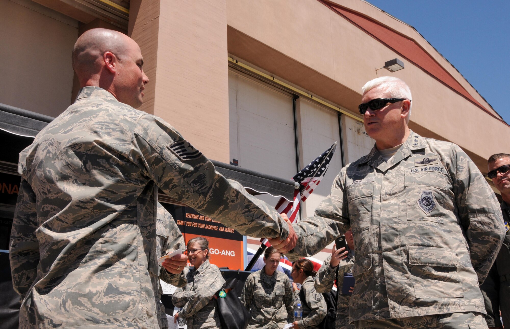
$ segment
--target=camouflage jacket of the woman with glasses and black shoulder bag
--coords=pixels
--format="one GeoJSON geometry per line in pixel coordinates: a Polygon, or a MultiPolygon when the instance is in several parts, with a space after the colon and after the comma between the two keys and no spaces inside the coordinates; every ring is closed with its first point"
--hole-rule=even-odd
{"type": "Polygon", "coordinates": [[[184,289],[175,290],[173,305],[183,308],[181,312],[189,329],[219,328],[216,303],[212,298],[225,284],[220,269],[206,260],[197,269],[187,266],[184,271],[188,284],[184,289]]]}

